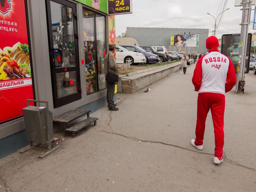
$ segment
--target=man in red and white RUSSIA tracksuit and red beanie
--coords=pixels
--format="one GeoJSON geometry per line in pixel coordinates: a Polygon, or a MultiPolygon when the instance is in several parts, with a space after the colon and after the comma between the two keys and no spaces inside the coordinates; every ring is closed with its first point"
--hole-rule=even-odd
{"type": "Polygon", "coordinates": [[[211,36],[206,40],[209,53],[200,57],[192,78],[195,91],[198,91],[198,101],[196,138],[191,140],[191,144],[199,150],[203,149],[205,120],[211,109],[215,135],[215,164],[223,161],[225,93],[236,83],[233,63],[230,58],[218,52],[218,46],[216,37],[211,36]]]}

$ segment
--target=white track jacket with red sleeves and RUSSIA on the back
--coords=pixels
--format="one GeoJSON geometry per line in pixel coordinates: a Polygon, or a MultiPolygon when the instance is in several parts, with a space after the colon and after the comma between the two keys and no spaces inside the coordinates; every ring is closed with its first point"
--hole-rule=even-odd
{"type": "Polygon", "coordinates": [[[235,69],[227,56],[212,48],[202,56],[195,67],[192,78],[195,91],[224,94],[229,92],[236,83],[235,69]]]}

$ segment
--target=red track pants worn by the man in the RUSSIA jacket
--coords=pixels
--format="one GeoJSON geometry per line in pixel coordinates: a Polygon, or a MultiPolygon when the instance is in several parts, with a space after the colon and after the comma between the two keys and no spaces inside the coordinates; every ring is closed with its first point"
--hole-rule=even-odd
{"type": "Polygon", "coordinates": [[[219,93],[199,93],[197,100],[197,125],[195,145],[203,144],[205,130],[205,120],[211,109],[214,135],[215,135],[215,153],[219,160],[223,158],[224,146],[224,111],[225,95],[219,93]]]}

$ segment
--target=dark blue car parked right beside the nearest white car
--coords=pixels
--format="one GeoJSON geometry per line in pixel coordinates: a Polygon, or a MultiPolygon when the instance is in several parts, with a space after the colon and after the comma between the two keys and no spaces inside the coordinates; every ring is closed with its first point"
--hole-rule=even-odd
{"type": "Polygon", "coordinates": [[[125,49],[128,49],[129,51],[143,54],[146,57],[147,64],[159,62],[159,57],[157,55],[146,52],[144,49],[140,48],[139,46],[136,46],[136,45],[120,45],[120,46],[125,49]]]}

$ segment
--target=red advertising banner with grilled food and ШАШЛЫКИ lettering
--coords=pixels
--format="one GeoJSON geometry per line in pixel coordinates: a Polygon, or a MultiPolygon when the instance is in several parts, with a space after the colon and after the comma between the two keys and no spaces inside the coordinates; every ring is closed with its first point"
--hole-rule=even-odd
{"type": "Polygon", "coordinates": [[[33,99],[24,0],[0,1],[0,123],[22,116],[33,99]]]}

